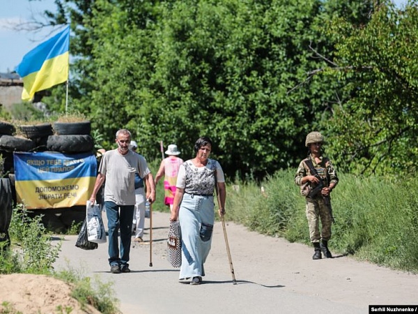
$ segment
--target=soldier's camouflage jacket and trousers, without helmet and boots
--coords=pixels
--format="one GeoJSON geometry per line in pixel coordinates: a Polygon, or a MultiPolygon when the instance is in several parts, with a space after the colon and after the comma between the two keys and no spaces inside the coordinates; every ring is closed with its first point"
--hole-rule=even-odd
{"type": "MultiPolygon", "coordinates": [[[[332,167],[331,161],[328,158],[320,157],[321,162],[316,163],[312,156],[309,156],[312,160],[312,164],[318,172],[318,175],[323,180],[325,186],[330,186],[331,183],[338,184],[338,177],[334,167],[332,167]]],[[[302,186],[302,178],[311,174],[308,165],[305,161],[308,158],[302,160],[297,167],[295,175],[295,183],[298,186],[302,186]]],[[[315,188],[314,184],[311,184],[312,188],[315,188]]],[[[319,192],[314,198],[306,197],[306,215],[309,224],[309,238],[312,243],[319,243],[320,239],[328,241],[331,237],[331,223],[332,217],[329,209],[324,203],[323,196],[319,192]],[[322,225],[322,230],[319,232],[319,219],[322,225]]]]}

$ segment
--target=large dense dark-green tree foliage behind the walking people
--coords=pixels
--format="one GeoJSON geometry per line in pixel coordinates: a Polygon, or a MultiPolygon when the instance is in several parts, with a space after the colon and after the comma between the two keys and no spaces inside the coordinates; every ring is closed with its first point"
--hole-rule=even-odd
{"type": "Polygon", "coordinates": [[[314,52],[333,53],[323,24],[360,24],[371,8],[334,0],[57,2],[54,18],[70,17],[77,38],[71,107],[109,142],[127,127],[147,158],[160,156],[162,140],[187,159],[208,135],[227,174],[254,177],[296,165],[305,135],[332,115],[341,81],[323,75],[301,84],[326,66],[314,52]]]}

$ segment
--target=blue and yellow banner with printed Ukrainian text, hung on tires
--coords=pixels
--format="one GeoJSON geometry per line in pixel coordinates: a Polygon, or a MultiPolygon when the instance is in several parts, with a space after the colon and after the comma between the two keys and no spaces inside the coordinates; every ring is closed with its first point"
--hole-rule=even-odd
{"type": "Polygon", "coordinates": [[[86,205],[93,192],[97,160],[91,153],[14,153],[18,203],[28,209],[86,205]]]}

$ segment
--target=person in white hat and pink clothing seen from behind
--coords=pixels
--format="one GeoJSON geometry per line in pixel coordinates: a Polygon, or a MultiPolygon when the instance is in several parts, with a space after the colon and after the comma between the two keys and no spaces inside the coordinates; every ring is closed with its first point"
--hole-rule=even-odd
{"type": "Polygon", "coordinates": [[[155,175],[155,185],[164,176],[164,204],[170,207],[170,211],[173,210],[173,200],[176,193],[176,181],[178,168],[183,163],[183,159],[178,157],[180,151],[178,151],[176,144],[170,144],[165,152],[168,155],[161,162],[160,169],[155,175]]]}

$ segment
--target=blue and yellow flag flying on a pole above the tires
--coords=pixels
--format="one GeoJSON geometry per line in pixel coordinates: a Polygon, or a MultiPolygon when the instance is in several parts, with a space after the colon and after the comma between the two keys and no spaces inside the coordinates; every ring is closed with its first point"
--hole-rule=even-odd
{"type": "Polygon", "coordinates": [[[69,48],[70,26],[25,54],[15,68],[23,80],[22,100],[68,80],[69,48]]]}

